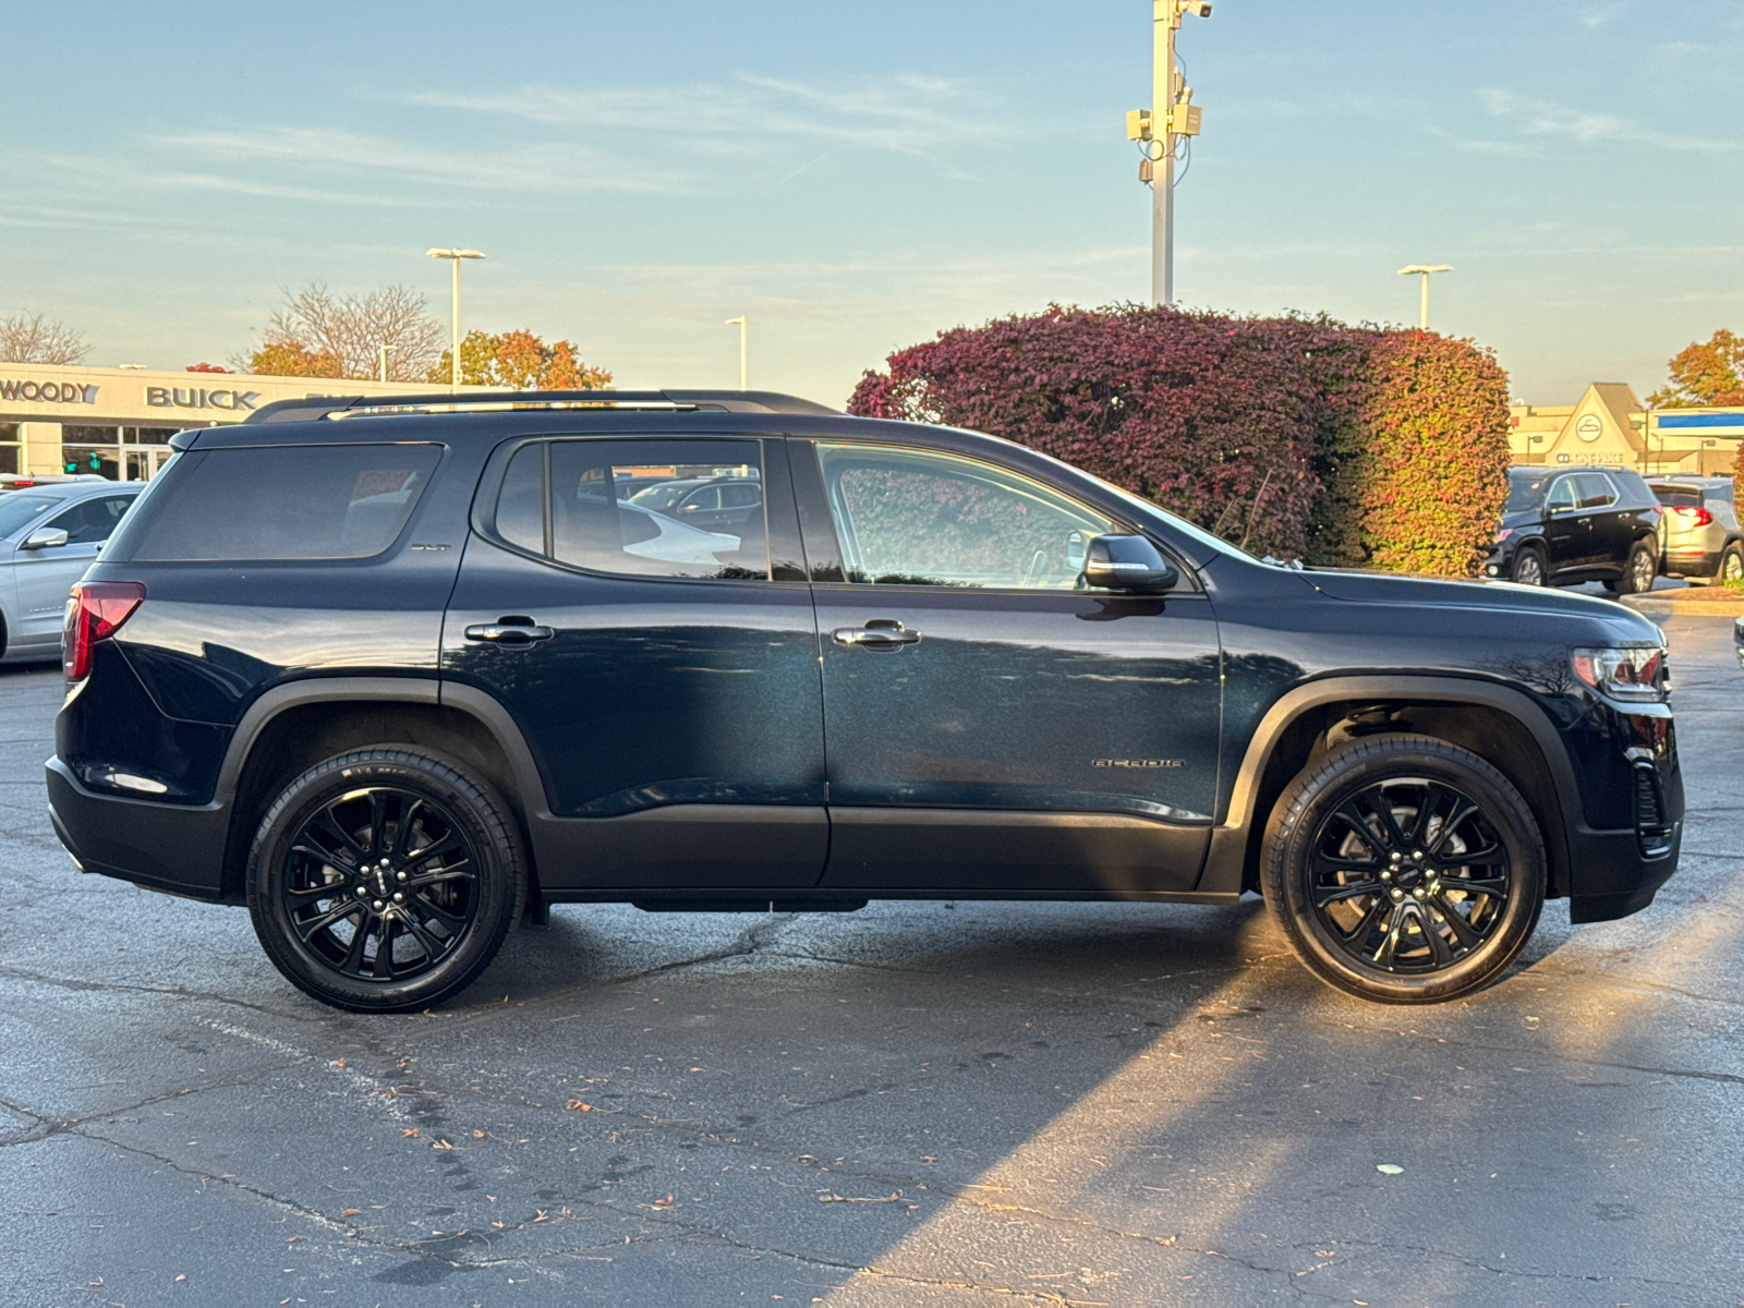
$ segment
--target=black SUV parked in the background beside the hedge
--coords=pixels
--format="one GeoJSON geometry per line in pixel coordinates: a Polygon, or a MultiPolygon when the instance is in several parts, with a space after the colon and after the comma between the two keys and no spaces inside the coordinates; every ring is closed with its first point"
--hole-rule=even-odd
{"type": "Polygon", "coordinates": [[[1618,595],[1653,589],[1660,514],[1627,467],[1510,467],[1484,576],[1523,586],[1603,581],[1618,595]]]}

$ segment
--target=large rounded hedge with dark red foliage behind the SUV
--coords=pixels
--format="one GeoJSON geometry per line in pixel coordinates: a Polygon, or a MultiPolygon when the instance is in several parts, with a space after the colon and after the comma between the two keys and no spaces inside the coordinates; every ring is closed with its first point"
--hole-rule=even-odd
{"type": "Polygon", "coordinates": [[[1470,342],[1120,305],[956,328],[849,412],[1005,436],[1256,553],[1467,574],[1507,492],[1507,377],[1470,342]]]}

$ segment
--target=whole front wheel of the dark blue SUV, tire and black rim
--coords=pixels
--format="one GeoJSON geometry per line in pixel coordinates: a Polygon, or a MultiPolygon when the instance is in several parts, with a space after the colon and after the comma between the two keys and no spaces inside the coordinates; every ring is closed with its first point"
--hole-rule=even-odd
{"type": "Polygon", "coordinates": [[[1320,980],[1362,999],[1442,1003],[1526,947],[1543,909],[1543,839],[1519,790],[1470,750],[1367,736],[1285,788],[1261,884],[1320,980]]]}

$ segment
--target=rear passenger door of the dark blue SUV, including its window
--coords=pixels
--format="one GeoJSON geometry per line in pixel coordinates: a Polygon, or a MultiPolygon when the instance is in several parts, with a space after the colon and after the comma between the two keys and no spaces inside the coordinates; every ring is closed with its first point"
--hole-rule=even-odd
{"type": "Polygon", "coordinates": [[[487,691],[532,746],[542,884],[814,886],[823,706],[781,443],[535,439],[492,459],[480,502],[443,677],[487,691]],[[767,485],[764,445],[773,523],[705,532],[623,499],[654,469],[767,485]]]}

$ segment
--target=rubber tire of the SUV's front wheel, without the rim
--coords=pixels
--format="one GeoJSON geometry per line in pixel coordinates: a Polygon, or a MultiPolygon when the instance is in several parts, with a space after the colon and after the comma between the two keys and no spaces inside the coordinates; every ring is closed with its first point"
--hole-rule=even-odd
{"type": "Polygon", "coordinates": [[[1430,738],[1378,738],[1334,750],[1285,792],[1273,811],[1266,851],[1266,900],[1298,956],[1327,984],[1364,999],[1441,1003],[1488,985],[1526,947],[1543,909],[1543,841],[1526,800],[1477,755],[1430,738]],[[1514,879],[1503,921],[1489,938],[1428,975],[1364,966],[1332,938],[1310,902],[1308,855],[1325,818],[1359,790],[1407,776],[1444,781],[1477,800],[1509,851],[1514,879]]]}

